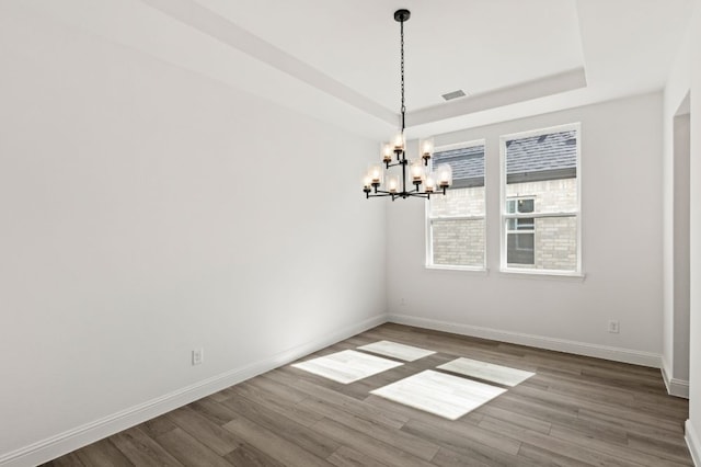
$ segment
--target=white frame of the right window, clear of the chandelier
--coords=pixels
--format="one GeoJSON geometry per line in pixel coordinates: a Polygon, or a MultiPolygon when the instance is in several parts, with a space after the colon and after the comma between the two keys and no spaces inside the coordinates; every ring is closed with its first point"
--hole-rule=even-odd
{"type": "MultiPolygon", "coordinates": [[[[556,276],[575,276],[582,277],[583,274],[583,260],[582,260],[582,123],[570,123],[565,125],[550,126],[545,128],[531,129],[526,132],[512,133],[508,135],[499,136],[499,272],[507,274],[530,274],[530,275],[556,275],[556,276]],[[509,214],[506,210],[507,201],[509,197],[506,195],[507,173],[506,173],[506,143],[508,140],[518,138],[528,138],[533,136],[549,135],[552,133],[575,130],[576,132],[576,190],[577,190],[577,203],[575,210],[563,210],[554,213],[514,213],[509,214]],[[533,223],[539,218],[548,217],[572,217],[576,218],[577,231],[577,262],[575,270],[542,270],[536,267],[514,267],[507,264],[507,221],[514,218],[532,218],[533,223]]],[[[524,195],[527,197],[529,195],[524,195]]],[[[521,197],[521,196],[519,196],[521,197]]],[[[514,198],[512,196],[510,198],[514,198]]],[[[535,232],[535,229],[533,229],[535,232]]]]}

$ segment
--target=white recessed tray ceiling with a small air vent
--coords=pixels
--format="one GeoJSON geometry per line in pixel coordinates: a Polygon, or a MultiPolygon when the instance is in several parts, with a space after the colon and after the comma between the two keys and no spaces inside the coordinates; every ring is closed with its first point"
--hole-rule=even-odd
{"type": "MultiPolygon", "coordinates": [[[[410,137],[664,87],[693,0],[14,0],[334,125],[410,137]],[[445,102],[441,94],[468,96],[445,102]]],[[[8,3],[5,3],[7,8],[8,3]]]]}

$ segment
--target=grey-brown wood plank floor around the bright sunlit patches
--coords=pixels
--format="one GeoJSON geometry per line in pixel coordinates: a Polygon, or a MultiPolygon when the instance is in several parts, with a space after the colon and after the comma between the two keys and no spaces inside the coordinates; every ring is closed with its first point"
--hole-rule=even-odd
{"type": "Polygon", "coordinates": [[[693,465],[658,369],[399,324],[313,355],[380,340],[437,353],[348,385],[286,365],[46,466],[693,465]],[[536,376],[457,421],[369,394],[459,356],[536,376]]]}

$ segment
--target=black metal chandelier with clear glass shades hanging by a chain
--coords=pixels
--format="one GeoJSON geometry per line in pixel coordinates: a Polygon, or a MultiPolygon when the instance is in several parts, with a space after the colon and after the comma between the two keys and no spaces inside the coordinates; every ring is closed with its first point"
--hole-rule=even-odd
{"type": "Polygon", "coordinates": [[[448,164],[441,164],[435,171],[429,172],[428,161],[433,156],[433,139],[424,139],[420,141],[418,158],[414,160],[406,159],[406,137],[404,136],[404,114],[406,106],[404,105],[404,22],[409,20],[411,12],[409,10],[397,10],[394,12],[394,21],[400,24],[400,44],[401,44],[401,89],[402,89],[402,106],[401,106],[401,128],[392,143],[384,143],[381,147],[382,162],[374,163],[363,178],[363,192],[365,197],[391,196],[392,201],[398,197],[423,197],[430,198],[434,193],[445,195],[446,190],[452,183],[452,170],[448,164]],[[392,162],[392,155],[397,160],[392,162]],[[384,168],[382,168],[382,163],[384,168]],[[406,169],[409,166],[409,176],[411,181],[407,183],[406,169]],[[389,169],[394,167],[402,168],[402,175],[389,174],[389,169]],[[386,174],[384,171],[388,171],[386,174]],[[406,186],[410,186],[410,190],[406,186]],[[411,186],[414,186],[411,189],[411,186]],[[423,185],[423,191],[422,191],[423,185]]]}

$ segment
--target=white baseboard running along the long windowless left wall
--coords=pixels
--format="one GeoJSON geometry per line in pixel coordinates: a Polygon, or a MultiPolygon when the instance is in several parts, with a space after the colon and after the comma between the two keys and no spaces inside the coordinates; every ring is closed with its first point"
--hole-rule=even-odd
{"type": "Polygon", "coordinates": [[[344,339],[387,322],[387,315],[378,315],[360,323],[349,326],[338,332],[315,339],[302,345],[277,353],[271,357],[231,369],[227,373],[198,381],[159,398],[149,400],[94,422],[77,426],[46,440],[0,455],[2,467],[30,467],[46,463],[58,456],[76,451],[103,437],[113,435],[130,426],[159,417],[203,397],[228,388],[262,373],[277,368],[301,356],[332,345],[344,339]]]}

